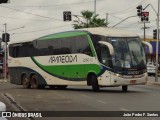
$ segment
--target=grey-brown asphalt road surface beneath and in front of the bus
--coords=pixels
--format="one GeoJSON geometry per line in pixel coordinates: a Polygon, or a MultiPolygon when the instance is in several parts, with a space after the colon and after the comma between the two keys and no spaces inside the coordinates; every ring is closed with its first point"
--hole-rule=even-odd
{"type": "MultiPolygon", "coordinates": [[[[9,83],[0,83],[0,92],[13,97],[19,105],[28,111],[160,111],[160,86],[158,85],[129,86],[126,93],[122,92],[121,87],[108,87],[95,93],[90,87],[82,86],[69,86],[66,90],[49,88],[33,90],[23,89],[22,86],[9,83]]],[[[0,97],[1,99],[3,98],[0,97]]],[[[11,109],[10,106],[7,108],[11,109]]],[[[47,119],[52,120],[53,118],[47,119]]],[[[66,120],[65,117],[56,119],[66,120]]],[[[68,119],[75,120],[73,117],[68,119]]],[[[160,117],[83,117],[76,119],[158,120],[160,117]]]]}

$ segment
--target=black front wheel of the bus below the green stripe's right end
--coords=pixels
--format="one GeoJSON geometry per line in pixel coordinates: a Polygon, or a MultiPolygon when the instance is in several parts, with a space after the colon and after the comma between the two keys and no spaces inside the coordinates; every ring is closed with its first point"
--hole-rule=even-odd
{"type": "Polygon", "coordinates": [[[91,76],[91,83],[92,83],[93,91],[98,92],[99,91],[99,85],[98,85],[97,77],[95,75],[91,76]]]}

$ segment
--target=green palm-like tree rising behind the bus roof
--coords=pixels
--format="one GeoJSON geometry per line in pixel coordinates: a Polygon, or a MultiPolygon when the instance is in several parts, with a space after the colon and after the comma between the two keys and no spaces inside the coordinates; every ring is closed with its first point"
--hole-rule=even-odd
{"type": "Polygon", "coordinates": [[[81,12],[84,21],[81,21],[79,16],[76,16],[78,20],[74,20],[73,28],[90,28],[90,27],[104,27],[106,26],[105,19],[98,18],[98,14],[94,15],[94,12],[89,10],[84,10],[81,12]]]}

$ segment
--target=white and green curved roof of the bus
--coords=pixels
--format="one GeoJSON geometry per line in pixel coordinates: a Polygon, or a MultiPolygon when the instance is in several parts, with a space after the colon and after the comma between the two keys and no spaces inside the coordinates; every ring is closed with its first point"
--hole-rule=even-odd
{"type": "MultiPolygon", "coordinates": [[[[102,35],[102,36],[108,36],[108,37],[138,37],[137,34],[134,32],[129,32],[126,30],[120,30],[117,28],[105,28],[105,27],[96,27],[96,28],[83,28],[83,29],[77,29],[73,31],[66,31],[66,32],[60,32],[60,33],[54,33],[54,34],[49,34],[46,36],[42,36],[36,40],[49,40],[49,39],[55,39],[55,38],[64,38],[64,37],[73,37],[73,36],[78,36],[78,35],[86,35],[91,33],[91,34],[97,34],[97,35],[102,35]]],[[[28,41],[23,41],[23,42],[29,42],[33,40],[28,40],[28,41]]],[[[22,43],[22,42],[12,42],[13,43],[22,43]]]]}

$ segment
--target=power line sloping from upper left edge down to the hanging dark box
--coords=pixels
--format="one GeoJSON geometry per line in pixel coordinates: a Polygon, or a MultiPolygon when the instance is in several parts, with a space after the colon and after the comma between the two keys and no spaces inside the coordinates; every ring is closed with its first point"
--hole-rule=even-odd
{"type": "Polygon", "coordinates": [[[35,15],[35,16],[42,17],[42,18],[47,18],[47,19],[52,19],[52,20],[57,20],[57,21],[63,21],[63,20],[61,20],[61,19],[56,19],[56,18],[51,18],[51,17],[47,17],[47,16],[42,16],[42,15],[30,13],[30,12],[25,12],[25,11],[22,11],[22,10],[19,10],[19,9],[14,9],[14,8],[6,7],[6,6],[0,6],[0,7],[4,7],[4,8],[11,9],[11,10],[18,11],[18,12],[23,12],[23,13],[26,13],[26,14],[35,15]]]}

